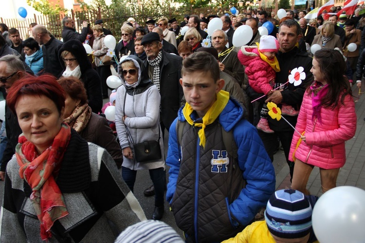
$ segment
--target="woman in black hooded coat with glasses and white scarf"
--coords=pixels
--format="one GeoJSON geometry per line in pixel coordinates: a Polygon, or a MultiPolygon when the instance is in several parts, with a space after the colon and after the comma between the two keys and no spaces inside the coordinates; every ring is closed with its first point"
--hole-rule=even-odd
{"type": "Polygon", "coordinates": [[[80,79],[85,86],[88,103],[92,112],[101,111],[103,98],[101,95],[101,79],[92,69],[86,50],[76,39],[66,41],[58,51],[58,59],[63,67],[63,77],[73,76],[80,79]]]}

